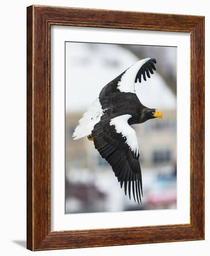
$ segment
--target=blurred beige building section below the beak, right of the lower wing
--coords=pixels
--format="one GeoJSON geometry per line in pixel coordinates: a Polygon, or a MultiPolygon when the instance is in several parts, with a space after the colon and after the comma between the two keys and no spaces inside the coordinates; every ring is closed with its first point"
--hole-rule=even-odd
{"type": "Polygon", "coordinates": [[[133,126],[139,141],[141,166],[145,168],[172,165],[177,160],[176,111],[161,109],[161,112],[163,119],[133,126]]]}

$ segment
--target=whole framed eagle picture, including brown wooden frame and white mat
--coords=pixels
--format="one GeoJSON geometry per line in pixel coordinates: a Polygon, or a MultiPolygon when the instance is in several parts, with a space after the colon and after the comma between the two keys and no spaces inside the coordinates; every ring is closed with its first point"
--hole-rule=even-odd
{"type": "Polygon", "coordinates": [[[204,17],[27,7],[27,248],[204,239],[204,17]]]}

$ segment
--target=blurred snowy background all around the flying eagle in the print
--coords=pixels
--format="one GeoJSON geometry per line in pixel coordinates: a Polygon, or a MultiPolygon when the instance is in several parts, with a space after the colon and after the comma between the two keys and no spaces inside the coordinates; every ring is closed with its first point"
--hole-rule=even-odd
{"type": "Polygon", "coordinates": [[[66,42],[66,213],[176,208],[177,48],[66,42]],[[129,200],[112,168],[87,138],[72,140],[79,119],[101,89],[127,67],[156,58],[157,71],[136,84],[142,104],[162,120],[135,125],[143,178],[142,205],[129,200]]]}

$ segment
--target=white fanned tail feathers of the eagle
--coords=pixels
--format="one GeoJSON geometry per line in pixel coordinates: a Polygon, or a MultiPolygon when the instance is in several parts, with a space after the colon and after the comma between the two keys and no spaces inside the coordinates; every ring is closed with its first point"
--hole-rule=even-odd
{"type": "Polygon", "coordinates": [[[72,135],[73,140],[78,140],[84,136],[90,135],[95,124],[101,120],[104,111],[105,110],[102,110],[99,98],[96,98],[88,108],[88,111],[85,112],[83,117],[79,120],[79,125],[75,128],[72,135]]]}

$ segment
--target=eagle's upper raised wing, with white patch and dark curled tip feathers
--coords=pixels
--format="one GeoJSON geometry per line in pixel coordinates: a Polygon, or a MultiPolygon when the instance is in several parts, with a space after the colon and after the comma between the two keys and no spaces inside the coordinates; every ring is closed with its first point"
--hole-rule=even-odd
{"type": "MultiPolygon", "coordinates": [[[[112,102],[123,94],[135,94],[135,83],[141,82],[141,77],[146,81],[146,76],[150,78],[153,70],[156,70],[154,64],[156,60],[153,58],[146,58],[136,62],[131,67],[127,68],[122,74],[118,75],[114,80],[110,81],[104,88],[102,88],[99,95],[99,101],[102,109],[112,108],[112,102]]],[[[119,99],[120,101],[120,99],[119,99]]]]}

